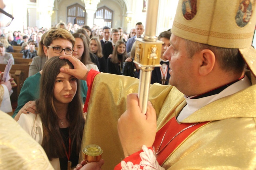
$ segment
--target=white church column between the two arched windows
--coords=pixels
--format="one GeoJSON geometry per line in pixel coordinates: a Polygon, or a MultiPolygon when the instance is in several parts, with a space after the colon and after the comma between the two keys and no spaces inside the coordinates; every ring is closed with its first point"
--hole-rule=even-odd
{"type": "Polygon", "coordinates": [[[86,25],[93,28],[94,14],[97,11],[97,5],[100,0],[84,0],[86,10],[86,25]]]}

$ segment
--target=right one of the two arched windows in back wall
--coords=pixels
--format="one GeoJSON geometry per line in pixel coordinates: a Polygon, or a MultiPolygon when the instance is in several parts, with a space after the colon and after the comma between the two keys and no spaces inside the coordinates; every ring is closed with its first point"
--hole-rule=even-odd
{"type": "MultiPolygon", "coordinates": [[[[113,23],[113,11],[106,6],[102,6],[97,9],[95,13],[95,19],[103,19],[103,26],[112,28],[113,23]]],[[[95,23],[94,23],[95,24],[95,23]]]]}

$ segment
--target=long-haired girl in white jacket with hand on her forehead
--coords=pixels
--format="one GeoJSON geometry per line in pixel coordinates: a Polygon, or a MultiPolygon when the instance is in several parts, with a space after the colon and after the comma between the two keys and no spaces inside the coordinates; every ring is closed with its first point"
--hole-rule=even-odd
{"type": "Polygon", "coordinates": [[[60,72],[63,67],[74,68],[58,56],[47,60],[36,101],[38,114],[21,114],[18,123],[42,145],[54,169],[66,170],[68,161],[78,164],[85,118],[79,80],[60,72]]]}

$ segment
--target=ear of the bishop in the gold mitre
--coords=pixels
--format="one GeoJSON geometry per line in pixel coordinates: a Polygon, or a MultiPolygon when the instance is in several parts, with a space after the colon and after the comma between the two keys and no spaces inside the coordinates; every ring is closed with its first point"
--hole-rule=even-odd
{"type": "Polygon", "coordinates": [[[213,70],[215,65],[215,54],[209,49],[203,49],[200,52],[199,74],[205,76],[213,70]]]}

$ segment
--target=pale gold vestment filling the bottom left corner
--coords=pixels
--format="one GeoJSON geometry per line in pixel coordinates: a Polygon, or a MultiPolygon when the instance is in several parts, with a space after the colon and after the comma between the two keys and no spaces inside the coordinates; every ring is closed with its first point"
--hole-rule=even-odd
{"type": "Polygon", "coordinates": [[[0,111],[0,169],[54,170],[42,146],[0,111]]]}

